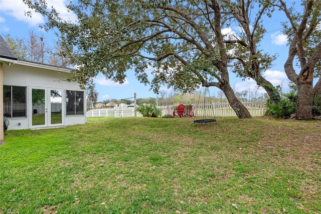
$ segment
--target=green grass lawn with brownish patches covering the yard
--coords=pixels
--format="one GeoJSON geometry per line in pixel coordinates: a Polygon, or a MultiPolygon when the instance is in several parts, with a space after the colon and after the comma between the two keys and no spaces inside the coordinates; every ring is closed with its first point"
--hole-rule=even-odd
{"type": "Polygon", "coordinates": [[[88,118],[5,133],[0,213],[320,213],[321,122],[88,118]]]}

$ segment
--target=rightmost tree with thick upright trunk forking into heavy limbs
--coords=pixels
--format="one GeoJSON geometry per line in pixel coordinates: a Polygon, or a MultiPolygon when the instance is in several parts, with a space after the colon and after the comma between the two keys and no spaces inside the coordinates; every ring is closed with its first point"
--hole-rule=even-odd
{"type": "Polygon", "coordinates": [[[283,33],[289,40],[289,54],[284,63],[287,77],[297,85],[296,119],[312,120],[313,97],[321,95],[321,1],[306,0],[299,13],[282,0],[274,4],[283,11],[288,22],[283,33]],[[297,59],[297,60],[295,60],[297,59]],[[295,68],[299,70],[298,74],[295,68]],[[319,78],[313,87],[313,79],[319,78]]]}

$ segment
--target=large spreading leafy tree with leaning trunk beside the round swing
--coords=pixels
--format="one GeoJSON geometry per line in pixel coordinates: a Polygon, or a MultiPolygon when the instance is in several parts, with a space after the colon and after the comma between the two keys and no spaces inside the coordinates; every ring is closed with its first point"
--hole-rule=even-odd
{"type": "Polygon", "coordinates": [[[74,77],[83,84],[102,72],[123,82],[126,70],[150,83],[184,92],[200,86],[220,88],[239,118],[250,118],[230,85],[228,49],[219,1],[79,1],[68,9],[78,17],[66,22],[44,0],[24,0],[57,28],[64,55],[78,65],[74,77]],[[153,67],[148,80],[146,68],[153,67]]]}

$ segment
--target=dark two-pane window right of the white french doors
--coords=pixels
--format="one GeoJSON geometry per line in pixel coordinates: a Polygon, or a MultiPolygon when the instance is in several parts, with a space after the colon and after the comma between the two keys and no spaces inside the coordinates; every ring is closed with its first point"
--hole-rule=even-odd
{"type": "Polygon", "coordinates": [[[84,115],[84,91],[66,90],[66,114],[84,115]]]}

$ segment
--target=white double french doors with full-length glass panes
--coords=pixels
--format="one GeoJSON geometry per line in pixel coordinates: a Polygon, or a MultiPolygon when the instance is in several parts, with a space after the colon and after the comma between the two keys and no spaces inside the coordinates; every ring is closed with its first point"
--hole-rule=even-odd
{"type": "Polygon", "coordinates": [[[30,124],[32,128],[63,125],[64,90],[59,88],[31,87],[30,124]]]}

